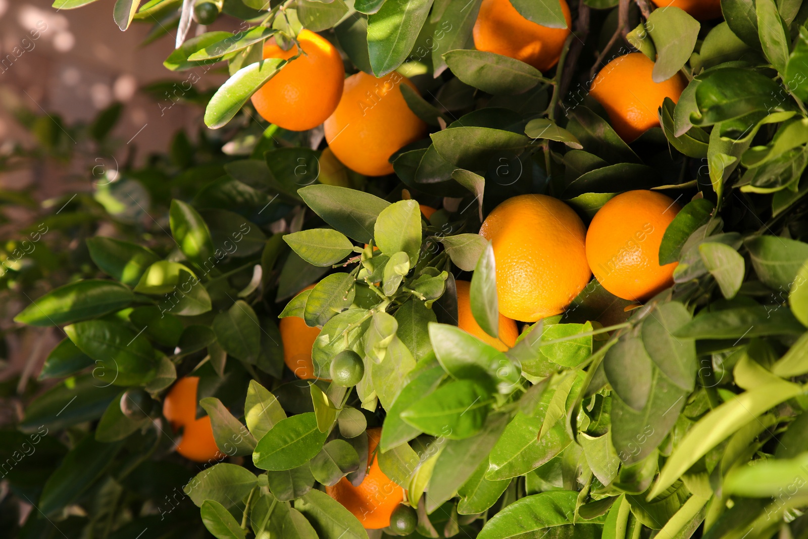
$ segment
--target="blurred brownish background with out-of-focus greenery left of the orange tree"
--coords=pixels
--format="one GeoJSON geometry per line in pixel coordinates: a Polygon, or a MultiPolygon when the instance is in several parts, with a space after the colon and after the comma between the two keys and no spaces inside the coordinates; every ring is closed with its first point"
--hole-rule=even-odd
{"type": "MultiPolygon", "coordinates": [[[[205,163],[208,173],[186,183],[221,174],[210,166],[221,145],[199,102],[226,73],[200,70],[191,86],[191,72],[162,65],[175,36],[137,20],[121,32],[113,2],[71,11],[0,0],[0,425],[19,420],[22,402],[48,385],[40,370],[65,336],[23,328],[15,314],[48,289],[95,276],[85,238],[148,242],[167,230],[159,206],[176,194],[164,188],[173,175],[205,163]]],[[[236,23],[221,17],[214,27],[236,23]]],[[[189,37],[204,31],[195,23],[189,37]]]]}

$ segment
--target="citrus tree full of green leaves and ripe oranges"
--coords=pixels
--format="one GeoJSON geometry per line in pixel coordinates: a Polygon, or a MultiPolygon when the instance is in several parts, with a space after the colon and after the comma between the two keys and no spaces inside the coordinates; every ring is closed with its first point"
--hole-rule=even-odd
{"type": "Polygon", "coordinates": [[[218,164],[16,315],[20,537],[806,537],[801,0],[113,15],[218,164]]]}

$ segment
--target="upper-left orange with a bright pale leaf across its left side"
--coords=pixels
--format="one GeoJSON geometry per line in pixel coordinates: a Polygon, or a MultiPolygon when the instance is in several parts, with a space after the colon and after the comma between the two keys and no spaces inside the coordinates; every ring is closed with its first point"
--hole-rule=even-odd
{"type": "MultiPolygon", "coordinates": [[[[305,54],[290,61],[252,96],[255,110],[264,120],[291,131],[305,131],[326,121],[343,95],[345,66],[339,51],[328,40],[303,30],[298,36],[305,54]]],[[[264,58],[288,58],[288,51],[274,39],[263,45],[264,58]]]]}

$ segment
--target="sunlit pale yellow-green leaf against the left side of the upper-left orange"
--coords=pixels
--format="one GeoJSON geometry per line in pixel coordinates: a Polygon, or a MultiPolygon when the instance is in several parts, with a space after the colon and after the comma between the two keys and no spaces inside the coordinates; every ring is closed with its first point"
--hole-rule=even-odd
{"type": "MultiPolygon", "coordinates": [[[[335,2],[341,1],[335,0],[335,2]]],[[[261,86],[274,77],[286,63],[286,60],[280,58],[269,58],[239,69],[236,74],[219,86],[208,102],[204,112],[204,124],[212,129],[223,127],[236,116],[242,105],[261,86]]]]}

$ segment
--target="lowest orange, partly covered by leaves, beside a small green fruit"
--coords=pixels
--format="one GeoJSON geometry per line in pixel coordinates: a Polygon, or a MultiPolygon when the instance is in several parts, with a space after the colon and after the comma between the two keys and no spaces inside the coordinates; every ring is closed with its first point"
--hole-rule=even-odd
{"type": "Polygon", "coordinates": [[[373,455],[380,437],[381,428],[368,428],[368,460],[373,456],[373,461],[360,486],[351,485],[347,478],[335,486],[326,486],[326,494],[342,503],[365,529],[387,528],[390,515],[404,499],[404,489],[381,471],[373,455]]]}

